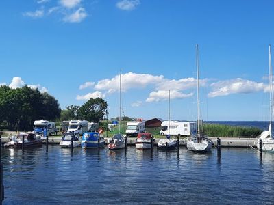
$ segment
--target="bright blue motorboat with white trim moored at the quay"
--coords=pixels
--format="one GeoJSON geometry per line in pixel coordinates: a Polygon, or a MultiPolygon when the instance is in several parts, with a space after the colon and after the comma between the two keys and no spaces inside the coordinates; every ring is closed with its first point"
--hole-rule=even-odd
{"type": "Polygon", "coordinates": [[[81,146],[82,148],[103,148],[105,146],[105,138],[100,136],[99,133],[84,133],[82,136],[81,146]]]}

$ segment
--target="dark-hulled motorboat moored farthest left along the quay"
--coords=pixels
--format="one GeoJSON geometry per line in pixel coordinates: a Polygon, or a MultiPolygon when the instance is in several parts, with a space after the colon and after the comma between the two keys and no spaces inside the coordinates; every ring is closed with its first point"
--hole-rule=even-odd
{"type": "Polygon", "coordinates": [[[8,148],[21,148],[23,142],[24,147],[41,146],[42,141],[44,141],[44,139],[36,137],[34,133],[19,133],[18,135],[13,135],[12,140],[4,143],[4,146],[8,148]]]}

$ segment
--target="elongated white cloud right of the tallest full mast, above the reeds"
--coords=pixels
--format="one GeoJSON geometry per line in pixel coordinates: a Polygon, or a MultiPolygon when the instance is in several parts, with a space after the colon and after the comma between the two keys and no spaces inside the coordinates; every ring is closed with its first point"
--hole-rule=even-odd
{"type": "Polygon", "coordinates": [[[219,81],[212,83],[212,92],[208,94],[209,97],[227,96],[229,94],[248,94],[258,92],[266,89],[264,83],[257,83],[245,79],[231,79],[226,81],[219,81]]]}

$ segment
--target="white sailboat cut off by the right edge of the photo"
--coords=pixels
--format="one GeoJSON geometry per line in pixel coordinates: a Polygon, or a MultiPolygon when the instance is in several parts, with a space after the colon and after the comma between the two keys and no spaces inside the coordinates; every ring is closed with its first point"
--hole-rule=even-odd
{"type": "Polygon", "coordinates": [[[271,66],[271,46],[269,45],[269,130],[263,131],[256,141],[256,146],[260,150],[260,140],[262,140],[262,151],[274,152],[274,139],[272,137],[273,118],[273,87],[272,87],[272,66],[271,66]]]}

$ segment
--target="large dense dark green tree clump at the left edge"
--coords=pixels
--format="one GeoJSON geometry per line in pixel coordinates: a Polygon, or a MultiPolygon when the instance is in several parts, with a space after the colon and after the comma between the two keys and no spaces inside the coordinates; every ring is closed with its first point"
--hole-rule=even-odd
{"type": "Polygon", "coordinates": [[[34,120],[55,120],[60,116],[58,101],[47,93],[25,85],[12,89],[0,86],[0,124],[12,130],[31,130],[34,120]]]}

